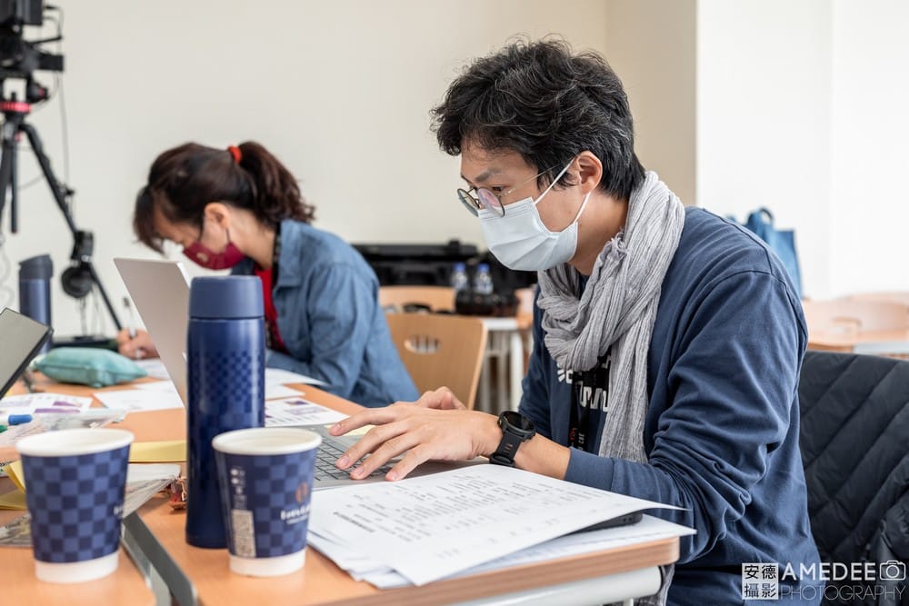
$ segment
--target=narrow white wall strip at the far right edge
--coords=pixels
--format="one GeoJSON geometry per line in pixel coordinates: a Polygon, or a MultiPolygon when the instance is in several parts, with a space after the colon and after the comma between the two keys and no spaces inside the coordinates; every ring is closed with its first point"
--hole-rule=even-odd
{"type": "Polygon", "coordinates": [[[836,0],[830,291],[909,291],[909,3],[836,0]]]}

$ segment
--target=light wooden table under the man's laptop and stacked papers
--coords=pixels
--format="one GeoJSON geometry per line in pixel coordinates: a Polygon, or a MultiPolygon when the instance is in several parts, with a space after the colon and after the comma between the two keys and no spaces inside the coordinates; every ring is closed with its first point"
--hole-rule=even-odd
{"type": "MultiPolygon", "coordinates": [[[[339,412],[352,413],[360,408],[309,385],[292,387],[305,392],[307,399],[339,412]]],[[[66,391],[72,392],[68,386],[66,391]]],[[[134,432],[136,442],[174,440],[185,436],[185,412],[180,409],[133,413],[120,426],[134,432]]],[[[139,545],[144,557],[155,566],[181,604],[406,603],[410,606],[470,601],[566,583],[570,587],[574,581],[598,580],[609,575],[623,580],[623,575],[633,576],[671,563],[679,554],[679,541],[673,538],[462,579],[436,581],[422,587],[382,591],[365,581],[354,581],[315,550],[307,550],[305,568],[300,573],[271,579],[236,575],[229,570],[226,550],[200,549],[186,543],[185,513],[172,510],[164,498],[146,503],[125,521],[125,528],[131,541],[139,545]]],[[[131,567],[124,566],[121,570],[124,568],[131,567]]],[[[104,600],[98,603],[128,602],[104,600]]]]}

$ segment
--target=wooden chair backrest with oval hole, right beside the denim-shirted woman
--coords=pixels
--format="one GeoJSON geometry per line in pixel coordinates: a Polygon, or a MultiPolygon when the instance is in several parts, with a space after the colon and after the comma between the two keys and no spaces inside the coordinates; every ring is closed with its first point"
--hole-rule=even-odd
{"type": "Polygon", "coordinates": [[[483,321],[444,313],[386,313],[385,319],[417,389],[448,387],[474,408],[486,348],[483,321]]]}

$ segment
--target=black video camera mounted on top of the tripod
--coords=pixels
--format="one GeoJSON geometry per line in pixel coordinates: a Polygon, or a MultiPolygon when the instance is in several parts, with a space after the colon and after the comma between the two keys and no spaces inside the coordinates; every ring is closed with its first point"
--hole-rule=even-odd
{"type": "Polygon", "coordinates": [[[25,102],[34,104],[47,98],[47,89],[33,78],[36,71],[62,72],[63,55],[39,48],[57,42],[60,36],[25,40],[25,25],[42,25],[43,0],[0,0],[0,84],[7,78],[25,80],[25,102]]]}

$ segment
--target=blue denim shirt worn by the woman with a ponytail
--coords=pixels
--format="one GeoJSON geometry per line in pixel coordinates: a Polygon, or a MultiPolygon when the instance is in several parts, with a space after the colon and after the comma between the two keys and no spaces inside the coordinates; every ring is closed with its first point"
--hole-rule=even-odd
{"type": "MultiPolygon", "coordinates": [[[[333,233],[294,220],[281,223],[272,297],[288,353],[265,363],[327,383],[327,392],[364,406],[418,396],[378,303],[379,282],[353,247],[333,233]]],[[[253,273],[245,259],[235,274],[253,273]]]]}

